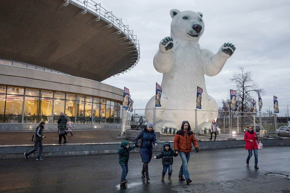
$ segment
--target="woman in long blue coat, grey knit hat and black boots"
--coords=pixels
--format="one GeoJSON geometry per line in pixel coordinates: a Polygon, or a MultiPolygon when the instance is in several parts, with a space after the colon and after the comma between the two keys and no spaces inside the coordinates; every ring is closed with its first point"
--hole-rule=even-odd
{"type": "Polygon", "coordinates": [[[152,158],[152,143],[157,146],[156,134],[153,130],[152,122],[147,123],[147,128],[139,133],[137,138],[134,140],[134,144],[136,145],[138,143],[138,139],[141,139],[142,137],[143,140],[140,148],[140,155],[143,162],[142,177],[144,178],[146,176],[146,180],[148,182],[148,180],[150,180],[148,174],[148,163],[151,161],[152,158]]]}

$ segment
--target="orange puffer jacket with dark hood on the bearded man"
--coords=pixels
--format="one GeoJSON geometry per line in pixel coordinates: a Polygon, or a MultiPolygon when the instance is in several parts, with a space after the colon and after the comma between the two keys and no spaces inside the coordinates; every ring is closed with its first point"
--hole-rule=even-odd
{"type": "MultiPolygon", "coordinates": [[[[188,123],[187,121],[185,123],[188,123]]],[[[198,148],[198,143],[197,140],[191,131],[190,125],[188,128],[188,132],[186,133],[183,130],[183,125],[182,123],[181,130],[177,131],[174,137],[174,150],[179,151],[179,152],[184,152],[184,153],[189,153],[191,152],[191,143],[193,143],[195,148],[198,148]]]]}

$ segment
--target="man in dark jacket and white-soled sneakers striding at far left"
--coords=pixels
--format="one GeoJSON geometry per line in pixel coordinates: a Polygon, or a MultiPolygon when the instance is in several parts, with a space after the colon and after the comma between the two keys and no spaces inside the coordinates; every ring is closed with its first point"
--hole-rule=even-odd
{"type": "Polygon", "coordinates": [[[46,136],[43,135],[44,125],[45,125],[45,122],[42,121],[37,126],[37,128],[36,128],[36,130],[34,132],[34,136],[33,136],[34,148],[32,150],[30,150],[29,152],[27,152],[27,153],[24,152],[25,159],[28,159],[28,156],[30,154],[32,154],[33,152],[36,152],[38,147],[39,147],[39,153],[38,153],[38,156],[37,156],[36,160],[43,160],[43,158],[41,157],[41,153],[42,153],[42,150],[43,150],[42,139],[46,138],[46,136]]]}

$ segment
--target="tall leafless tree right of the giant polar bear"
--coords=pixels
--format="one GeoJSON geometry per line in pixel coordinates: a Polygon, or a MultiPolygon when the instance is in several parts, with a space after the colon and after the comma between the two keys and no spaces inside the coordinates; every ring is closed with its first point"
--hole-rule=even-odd
{"type": "Polygon", "coordinates": [[[251,92],[256,92],[260,95],[264,94],[264,89],[259,88],[259,84],[255,83],[252,79],[251,71],[244,71],[244,67],[239,67],[240,72],[233,74],[231,81],[235,83],[235,89],[237,91],[236,101],[241,105],[242,112],[249,112],[253,108],[253,97],[251,92]]]}

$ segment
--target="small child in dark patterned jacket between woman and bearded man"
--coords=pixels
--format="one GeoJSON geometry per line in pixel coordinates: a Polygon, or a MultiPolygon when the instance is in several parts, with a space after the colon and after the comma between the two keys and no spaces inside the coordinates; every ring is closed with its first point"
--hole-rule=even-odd
{"type": "Polygon", "coordinates": [[[171,174],[172,174],[173,156],[174,157],[178,156],[178,153],[175,153],[175,151],[170,148],[170,143],[168,141],[164,142],[161,154],[153,156],[153,158],[155,159],[162,158],[163,171],[161,181],[164,181],[164,175],[166,174],[167,168],[168,168],[168,181],[170,182],[172,181],[171,174]]]}

